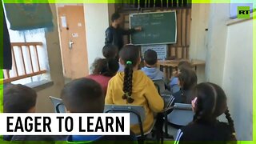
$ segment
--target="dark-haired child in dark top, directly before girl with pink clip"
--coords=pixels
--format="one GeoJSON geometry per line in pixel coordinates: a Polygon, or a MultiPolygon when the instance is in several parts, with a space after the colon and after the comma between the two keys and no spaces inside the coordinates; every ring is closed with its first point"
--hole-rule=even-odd
{"type": "Polygon", "coordinates": [[[191,90],[197,85],[198,78],[194,70],[182,68],[178,74],[178,85],[181,89],[174,93],[174,103],[190,103],[191,90]]]}

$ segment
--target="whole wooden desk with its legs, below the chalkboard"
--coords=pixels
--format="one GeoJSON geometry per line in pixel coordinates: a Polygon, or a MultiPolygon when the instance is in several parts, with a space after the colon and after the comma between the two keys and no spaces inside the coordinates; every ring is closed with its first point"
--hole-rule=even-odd
{"type": "MultiPolygon", "coordinates": [[[[173,69],[178,70],[178,62],[181,60],[165,60],[165,61],[158,61],[158,66],[160,70],[165,72],[166,78],[171,78],[173,69]]],[[[197,66],[205,66],[206,62],[198,59],[193,59],[189,61],[192,66],[194,66],[194,70],[197,70],[197,66]]]]}

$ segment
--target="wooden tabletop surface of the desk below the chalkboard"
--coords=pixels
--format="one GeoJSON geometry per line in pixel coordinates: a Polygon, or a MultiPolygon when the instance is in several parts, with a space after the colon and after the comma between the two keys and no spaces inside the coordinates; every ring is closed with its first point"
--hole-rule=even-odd
{"type": "MultiPolygon", "coordinates": [[[[158,61],[158,66],[171,66],[171,67],[177,67],[178,62],[181,60],[166,60],[166,61],[158,61]]],[[[198,59],[193,59],[190,61],[192,66],[205,66],[206,62],[198,59]]]]}

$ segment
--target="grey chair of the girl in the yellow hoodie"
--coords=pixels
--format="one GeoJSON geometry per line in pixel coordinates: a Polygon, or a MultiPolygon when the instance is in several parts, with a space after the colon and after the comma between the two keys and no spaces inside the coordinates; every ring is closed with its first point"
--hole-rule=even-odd
{"type": "Polygon", "coordinates": [[[143,122],[145,120],[145,110],[143,106],[132,106],[132,105],[105,105],[105,113],[130,113],[130,125],[138,125],[141,134],[136,135],[136,137],[145,140],[145,135],[150,134],[154,128],[155,120],[150,130],[143,131],[143,122]]]}

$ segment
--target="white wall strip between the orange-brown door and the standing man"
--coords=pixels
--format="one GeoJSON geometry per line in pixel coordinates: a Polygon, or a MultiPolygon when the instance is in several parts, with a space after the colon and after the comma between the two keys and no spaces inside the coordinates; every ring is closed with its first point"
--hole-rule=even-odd
{"type": "Polygon", "coordinates": [[[89,68],[95,58],[102,58],[105,30],[109,26],[108,4],[84,4],[89,68]]]}

